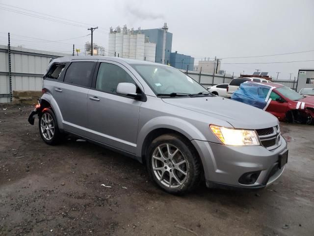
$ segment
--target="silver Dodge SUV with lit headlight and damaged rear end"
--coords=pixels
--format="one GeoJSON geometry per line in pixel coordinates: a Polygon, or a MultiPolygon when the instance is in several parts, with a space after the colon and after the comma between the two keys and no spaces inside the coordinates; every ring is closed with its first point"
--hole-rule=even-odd
{"type": "Polygon", "coordinates": [[[169,193],[201,181],[264,187],[283,173],[286,141],[276,117],[218,97],[183,72],[113,57],[51,61],[30,114],[50,145],[75,134],[145,163],[169,193]]]}

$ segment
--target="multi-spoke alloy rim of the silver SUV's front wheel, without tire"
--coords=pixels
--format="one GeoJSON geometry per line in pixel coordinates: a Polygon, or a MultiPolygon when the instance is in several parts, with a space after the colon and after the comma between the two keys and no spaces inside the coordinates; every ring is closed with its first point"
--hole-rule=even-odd
{"type": "Polygon", "coordinates": [[[169,188],[180,187],[188,174],[184,155],[171,144],[161,144],[154,150],[152,167],[158,181],[169,188]]]}

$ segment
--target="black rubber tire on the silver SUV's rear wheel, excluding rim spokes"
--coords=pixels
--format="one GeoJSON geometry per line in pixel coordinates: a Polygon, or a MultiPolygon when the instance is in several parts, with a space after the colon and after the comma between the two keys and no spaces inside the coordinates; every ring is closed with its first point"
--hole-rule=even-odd
{"type": "MultiPolygon", "coordinates": [[[[46,115],[47,116],[47,115],[46,115]]],[[[52,122],[50,122],[52,123],[52,122]]],[[[46,126],[47,127],[47,126],[46,126]]],[[[39,128],[39,133],[40,133],[40,136],[41,138],[43,139],[43,141],[46,143],[46,144],[49,144],[49,145],[56,145],[60,142],[61,140],[61,134],[60,134],[60,131],[59,131],[59,127],[58,127],[58,123],[57,123],[57,119],[55,118],[55,115],[54,113],[52,112],[52,110],[50,108],[45,108],[40,114],[39,114],[39,122],[38,122],[38,128],[39,128]],[[45,122],[45,114],[49,114],[49,116],[52,118],[52,121],[53,121],[53,127],[54,127],[54,132],[53,134],[50,132],[50,131],[47,131],[46,132],[49,132],[49,135],[51,136],[51,139],[47,139],[47,134],[45,134],[45,131],[43,132],[42,131],[42,119],[44,119],[43,121],[45,122]]],[[[50,138],[50,137],[49,137],[50,138]]]]}

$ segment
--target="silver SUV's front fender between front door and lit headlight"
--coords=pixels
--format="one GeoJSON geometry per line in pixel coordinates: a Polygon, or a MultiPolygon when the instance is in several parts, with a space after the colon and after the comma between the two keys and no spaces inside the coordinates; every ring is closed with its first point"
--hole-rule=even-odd
{"type": "Polygon", "coordinates": [[[155,129],[175,130],[190,141],[202,140],[220,143],[209,129],[209,124],[231,126],[223,120],[165,103],[157,97],[148,96],[147,99],[147,102],[143,102],[140,108],[136,150],[136,155],[139,157],[142,155],[142,146],[146,136],[155,129]]]}

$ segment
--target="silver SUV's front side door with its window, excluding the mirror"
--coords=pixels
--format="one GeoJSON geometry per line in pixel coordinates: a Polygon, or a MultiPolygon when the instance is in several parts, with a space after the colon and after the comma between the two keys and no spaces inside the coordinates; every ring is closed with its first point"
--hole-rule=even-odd
{"type": "MultiPolygon", "coordinates": [[[[116,93],[119,83],[141,85],[117,62],[99,64],[95,87],[88,93],[90,138],[114,148],[135,153],[141,101],[116,93]]],[[[143,91],[143,90],[142,90],[143,91]]]]}

